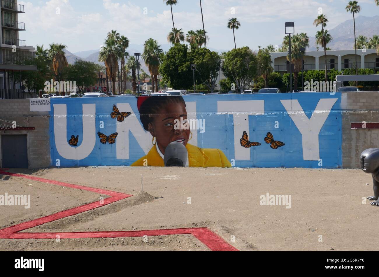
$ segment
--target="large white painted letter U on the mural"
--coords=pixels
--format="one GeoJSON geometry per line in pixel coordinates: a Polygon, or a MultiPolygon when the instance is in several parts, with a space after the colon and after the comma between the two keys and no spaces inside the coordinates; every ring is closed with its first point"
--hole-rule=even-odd
{"type": "Polygon", "coordinates": [[[67,142],[66,104],[54,105],[53,120],[55,147],[62,158],[83,160],[91,154],[96,143],[96,104],[83,104],[83,142],[78,147],[72,147],[67,142]]]}

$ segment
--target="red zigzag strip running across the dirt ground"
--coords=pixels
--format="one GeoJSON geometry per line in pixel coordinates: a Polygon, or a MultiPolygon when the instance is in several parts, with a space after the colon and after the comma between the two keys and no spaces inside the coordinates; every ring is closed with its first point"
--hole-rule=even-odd
{"type": "Polygon", "coordinates": [[[235,247],[226,243],[224,239],[213,233],[208,228],[179,228],[179,229],[163,229],[163,230],[143,230],[143,231],[117,231],[117,232],[64,232],[64,233],[19,233],[48,222],[56,221],[58,219],[66,218],[75,214],[83,213],[85,211],[93,210],[103,207],[113,202],[128,198],[132,195],[124,194],[121,192],[109,191],[105,189],[90,188],[87,186],[74,185],[44,178],[34,177],[25,174],[16,174],[11,172],[0,171],[0,174],[10,175],[14,177],[27,178],[37,182],[49,183],[52,185],[65,186],[68,188],[82,189],[86,191],[105,194],[108,197],[103,200],[89,203],[83,206],[75,207],[69,210],[60,211],[49,216],[37,218],[32,221],[23,222],[11,227],[0,230],[0,238],[4,239],[56,239],[59,238],[126,238],[126,237],[143,237],[147,236],[166,236],[166,235],[189,235],[192,234],[199,241],[204,243],[212,251],[238,251],[235,247]]]}

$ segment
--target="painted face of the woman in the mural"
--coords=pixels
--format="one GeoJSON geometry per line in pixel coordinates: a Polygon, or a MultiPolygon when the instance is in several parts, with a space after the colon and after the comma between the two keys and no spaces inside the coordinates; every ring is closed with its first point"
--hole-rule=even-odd
{"type": "Polygon", "coordinates": [[[153,121],[149,124],[150,134],[157,138],[159,149],[164,155],[166,147],[174,141],[187,145],[190,130],[187,122],[187,111],[183,103],[166,105],[157,114],[154,114],[153,121]],[[179,124],[175,124],[179,121],[179,124]],[[180,124],[183,122],[183,124],[180,124]]]}

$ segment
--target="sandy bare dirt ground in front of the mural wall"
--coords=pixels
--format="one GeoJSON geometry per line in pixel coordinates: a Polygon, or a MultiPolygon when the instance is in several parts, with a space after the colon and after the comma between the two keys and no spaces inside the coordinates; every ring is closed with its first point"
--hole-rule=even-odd
{"type": "MultiPolygon", "coordinates": [[[[362,197],[373,195],[372,178],[358,169],[81,167],[9,171],[133,194],[105,207],[23,232],[207,227],[239,250],[377,250],[374,242],[379,208],[371,206],[370,201],[362,203],[362,197]],[[141,193],[141,175],[147,193],[141,193]],[[267,193],[290,195],[291,208],[260,205],[260,196],[267,193]]],[[[19,177],[0,175],[0,179],[0,195],[7,192],[31,197],[29,209],[0,206],[0,228],[100,197],[93,192],[19,177]]],[[[208,248],[192,235],[172,235],[149,237],[147,241],[0,239],[0,250],[208,248]]]]}

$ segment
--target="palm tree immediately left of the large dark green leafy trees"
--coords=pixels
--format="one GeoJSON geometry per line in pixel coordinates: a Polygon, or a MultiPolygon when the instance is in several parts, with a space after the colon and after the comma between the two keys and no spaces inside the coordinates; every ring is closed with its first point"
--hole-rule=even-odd
{"type": "Polygon", "coordinates": [[[163,54],[161,46],[152,38],[145,41],[142,58],[149,68],[153,80],[155,80],[155,89],[158,92],[158,71],[161,63],[160,56],[163,54]]]}

